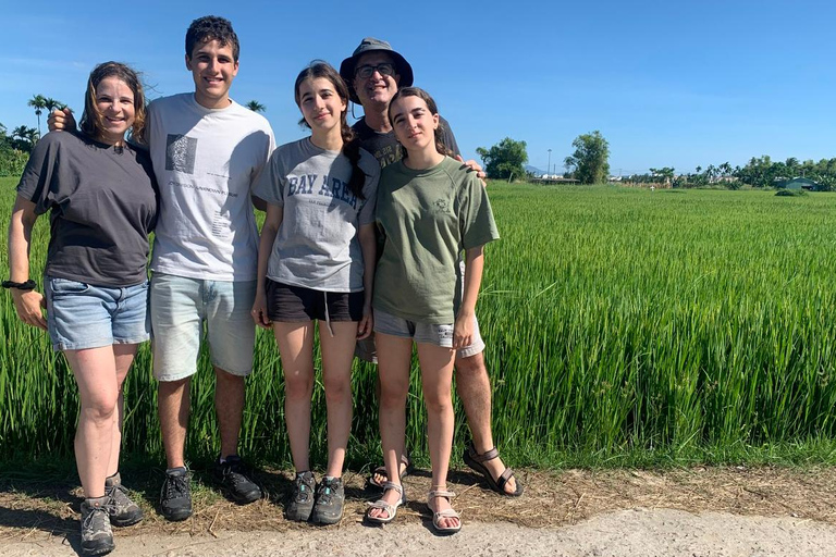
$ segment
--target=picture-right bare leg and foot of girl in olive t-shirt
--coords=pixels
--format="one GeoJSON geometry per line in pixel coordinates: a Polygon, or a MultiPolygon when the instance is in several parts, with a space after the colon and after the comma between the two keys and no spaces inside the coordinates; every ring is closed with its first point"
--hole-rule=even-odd
{"type": "MultiPolygon", "coordinates": [[[[450,469],[450,454],[453,450],[453,361],[455,352],[450,348],[418,343],[418,361],[421,363],[421,388],[427,405],[427,430],[432,462],[433,488],[445,488],[450,469]]],[[[428,502],[434,511],[451,508],[444,497],[428,502]]],[[[442,518],[442,528],[458,525],[459,519],[442,518]]]]}

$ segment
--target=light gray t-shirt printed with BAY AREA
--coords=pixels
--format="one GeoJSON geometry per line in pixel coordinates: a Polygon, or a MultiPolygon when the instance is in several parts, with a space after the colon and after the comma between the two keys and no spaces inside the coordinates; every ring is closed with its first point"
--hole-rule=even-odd
{"type": "Polygon", "coordinates": [[[374,222],[380,165],[360,149],[366,174],[360,199],[348,189],[352,163],[310,138],[279,147],[253,193],[283,207],[267,276],[324,292],[362,290],[362,251],[357,232],[374,222]]]}

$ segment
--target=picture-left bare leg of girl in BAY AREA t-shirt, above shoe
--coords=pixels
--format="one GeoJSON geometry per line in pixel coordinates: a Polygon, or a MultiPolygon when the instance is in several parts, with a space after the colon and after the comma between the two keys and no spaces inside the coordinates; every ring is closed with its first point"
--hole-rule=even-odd
{"type": "MultiPolygon", "coordinates": [[[[356,330],[356,327],[355,327],[356,330]]],[[[314,394],[314,322],[273,322],[284,371],[284,419],[293,466],[310,470],[310,397],[314,394]]]]}

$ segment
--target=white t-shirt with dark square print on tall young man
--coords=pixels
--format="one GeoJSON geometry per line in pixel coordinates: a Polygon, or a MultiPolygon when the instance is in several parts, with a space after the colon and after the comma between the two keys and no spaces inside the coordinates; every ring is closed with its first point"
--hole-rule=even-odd
{"type": "Polygon", "coordinates": [[[270,124],[234,101],[212,110],[187,92],[151,102],[147,125],[160,188],[151,270],[256,280],[258,227],[249,196],[275,146],[270,124]]]}

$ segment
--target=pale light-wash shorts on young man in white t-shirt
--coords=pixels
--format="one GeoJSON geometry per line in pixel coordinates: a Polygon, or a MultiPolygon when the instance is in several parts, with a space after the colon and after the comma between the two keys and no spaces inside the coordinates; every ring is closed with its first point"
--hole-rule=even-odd
{"type": "Polygon", "coordinates": [[[206,324],[212,366],[233,375],[253,371],[256,324],[249,314],[256,281],[151,276],[153,376],[179,381],[197,371],[206,324]]]}

